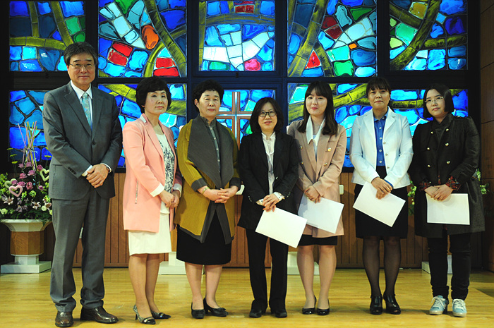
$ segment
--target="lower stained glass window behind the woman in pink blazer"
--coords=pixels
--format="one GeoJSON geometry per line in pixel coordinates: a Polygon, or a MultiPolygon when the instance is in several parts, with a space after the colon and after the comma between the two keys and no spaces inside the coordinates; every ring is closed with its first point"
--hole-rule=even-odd
{"type": "MultiPolygon", "coordinates": [[[[129,84],[105,84],[99,88],[104,92],[113,95],[116,100],[116,105],[119,107],[120,124],[123,127],[128,121],[138,119],[141,112],[140,107],[135,102],[135,87],[137,85],[129,84]]],[[[174,133],[175,141],[179,138],[180,127],[186,124],[186,85],[184,84],[169,84],[171,93],[170,108],[166,113],[159,116],[164,126],[168,126],[174,133]]],[[[119,161],[119,166],[125,164],[123,150],[119,161]]]]}

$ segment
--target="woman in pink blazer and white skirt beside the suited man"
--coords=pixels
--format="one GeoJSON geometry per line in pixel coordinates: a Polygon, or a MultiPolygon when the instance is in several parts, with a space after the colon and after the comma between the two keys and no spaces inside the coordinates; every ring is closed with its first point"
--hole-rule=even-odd
{"type": "Polygon", "coordinates": [[[155,319],[170,317],[157,308],[155,286],[159,254],[171,251],[173,209],[179,205],[182,181],[173,133],[159,122],[171,102],[167,83],[145,78],[135,89],[135,99],[143,114],[123,127],[123,228],[128,230],[135,319],[155,324],[155,319]]]}

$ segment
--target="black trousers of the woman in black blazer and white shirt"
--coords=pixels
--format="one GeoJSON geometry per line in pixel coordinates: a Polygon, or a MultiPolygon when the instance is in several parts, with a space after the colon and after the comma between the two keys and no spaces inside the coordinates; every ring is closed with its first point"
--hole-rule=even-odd
{"type": "MultiPolygon", "coordinates": [[[[267,283],[265,270],[267,237],[246,229],[248,246],[248,269],[251,276],[251,287],[254,295],[253,310],[266,310],[267,283]]],[[[272,311],[285,308],[287,297],[287,260],[288,245],[270,238],[272,257],[271,288],[269,305],[272,311]]]]}

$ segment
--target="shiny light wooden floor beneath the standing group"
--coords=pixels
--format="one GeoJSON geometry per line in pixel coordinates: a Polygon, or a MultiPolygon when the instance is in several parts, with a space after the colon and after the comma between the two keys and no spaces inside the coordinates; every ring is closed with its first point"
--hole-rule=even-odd
{"type": "MultiPolygon", "coordinates": [[[[76,284],[81,286],[80,269],[74,269],[76,284]]],[[[269,270],[268,270],[269,274],[269,270]]],[[[381,274],[381,284],[384,281],[381,274]]],[[[466,299],[468,316],[451,314],[428,315],[430,308],[430,276],[421,269],[403,269],[397,281],[397,300],[401,315],[370,315],[370,288],[363,269],[337,269],[330,291],[331,313],[327,317],[302,315],[303,287],[299,276],[288,277],[288,317],[277,319],[265,315],[260,319],[248,317],[252,294],[248,269],[224,269],[219,284],[217,301],[227,308],[226,318],[191,317],[191,296],[185,276],[159,276],[157,304],[171,315],[161,320],[162,327],[493,327],[494,273],[474,271],[471,274],[469,297],[466,299]]],[[[134,302],[127,269],[105,269],[106,297],[104,308],[119,317],[110,327],[145,327],[134,320],[134,302]]],[[[315,287],[318,288],[318,278],[315,287]]],[[[317,291],[317,289],[316,289],[317,291]]],[[[317,293],[317,292],[316,292],[317,293]]],[[[79,294],[76,293],[76,296],[79,294]]],[[[76,298],[77,299],[77,298],[76,298]]],[[[80,322],[80,305],[74,311],[74,327],[107,327],[95,322],[80,322]]],[[[0,275],[0,327],[55,327],[56,310],[49,298],[49,272],[42,274],[0,275]]]]}

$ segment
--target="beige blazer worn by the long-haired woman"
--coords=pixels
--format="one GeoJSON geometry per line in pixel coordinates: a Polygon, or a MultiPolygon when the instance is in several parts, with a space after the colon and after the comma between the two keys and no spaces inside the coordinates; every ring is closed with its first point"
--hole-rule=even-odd
{"type": "MultiPolygon", "coordinates": [[[[295,138],[299,149],[299,180],[294,195],[297,206],[303,197],[303,190],[314,186],[318,193],[328,200],[339,202],[339,175],[342,173],[347,149],[347,132],[338,124],[338,132],[335,135],[320,135],[318,142],[318,159],[315,160],[314,146],[312,142],[307,144],[306,133],[299,132],[302,121],[292,122],[288,129],[288,135],[295,138]]],[[[342,219],[336,233],[330,233],[313,226],[306,225],[303,234],[312,235],[315,238],[326,238],[343,235],[342,219]]]]}

